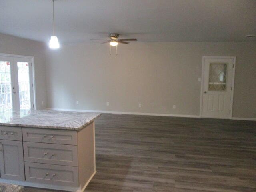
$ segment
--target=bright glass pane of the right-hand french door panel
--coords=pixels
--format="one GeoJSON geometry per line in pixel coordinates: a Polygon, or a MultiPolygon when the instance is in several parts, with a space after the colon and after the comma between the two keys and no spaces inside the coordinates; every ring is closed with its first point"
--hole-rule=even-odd
{"type": "Polygon", "coordinates": [[[30,109],[30,82],[28,62],[17,62],[20,109],[30,109]]]}

